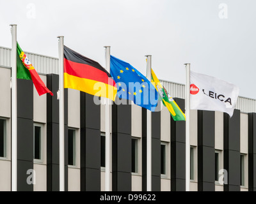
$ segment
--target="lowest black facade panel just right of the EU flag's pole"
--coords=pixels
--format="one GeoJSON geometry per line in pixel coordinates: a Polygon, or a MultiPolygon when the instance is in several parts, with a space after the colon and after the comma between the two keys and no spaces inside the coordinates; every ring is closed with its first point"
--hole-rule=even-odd
{"type": "Polygon", "coordinates": [[[131,191],[132,179],[129,172],[113,172],[112,191],[131,191]]]}

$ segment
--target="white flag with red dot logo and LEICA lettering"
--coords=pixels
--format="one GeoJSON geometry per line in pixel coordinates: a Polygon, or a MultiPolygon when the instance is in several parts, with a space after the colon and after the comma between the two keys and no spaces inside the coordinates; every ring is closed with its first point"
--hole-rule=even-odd
{"type": "Polygon", "coordinates": [[[232,117],[238,93],[234,84],[190,71],[190,109],[226,112],[232,117]]]}

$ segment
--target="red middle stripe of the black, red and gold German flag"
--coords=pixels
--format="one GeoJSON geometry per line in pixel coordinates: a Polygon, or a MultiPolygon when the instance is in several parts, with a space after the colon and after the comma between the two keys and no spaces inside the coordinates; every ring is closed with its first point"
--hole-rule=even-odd
{"type": "Polygon", "coordinates": [[[88,78],[90,80],[95,80],[97,82],[103,82],[104,84],[109,84],[115,86],[115,81],[112,78],[109,78],[108,75],[88,64],[81,64],[77,62],[69,61],[64,58],[64,73],[68,75],[73,75],[79,78],[88,78]]]}

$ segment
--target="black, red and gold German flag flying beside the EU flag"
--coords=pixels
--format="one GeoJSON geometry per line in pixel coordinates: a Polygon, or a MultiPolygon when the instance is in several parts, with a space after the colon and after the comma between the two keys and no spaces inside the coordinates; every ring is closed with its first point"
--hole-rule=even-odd
{"type": "Polygon", "coordinates": [[[76,89],[115,101],[116,84],[98,62],[64,45],[64,88],[76,89]]]}

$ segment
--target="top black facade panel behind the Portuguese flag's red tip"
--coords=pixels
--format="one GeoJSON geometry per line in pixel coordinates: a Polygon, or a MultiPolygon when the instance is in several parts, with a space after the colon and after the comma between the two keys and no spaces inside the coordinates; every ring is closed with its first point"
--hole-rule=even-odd
{"type": "Polygon", "coordinates": [[[47,94],[47,123],[59,123],[60,106],[59,100],[57,99],[57,91],[59,89],[59,75],[47,75],[47,88],[54,94],[54,96],[47,94]]]}

